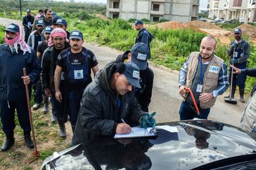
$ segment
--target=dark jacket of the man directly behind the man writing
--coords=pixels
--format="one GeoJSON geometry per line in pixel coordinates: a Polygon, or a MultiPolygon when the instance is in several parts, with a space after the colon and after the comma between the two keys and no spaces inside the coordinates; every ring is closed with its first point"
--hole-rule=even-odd
{"type": "MultiPolygon", "coordinates": [[[[126,62],[128,59],[128,53],[130,51],[120,54],[116,58],[116,62],[126,62]]],[[[151,68],[147,67],[146,70],[140,70],[140,86],[141,88],[135,88],[135,96],[142,107],[142,110],[148,112],[148,105],[151,102],[152,89],[153,89],[154,73],[151,68]]]]}

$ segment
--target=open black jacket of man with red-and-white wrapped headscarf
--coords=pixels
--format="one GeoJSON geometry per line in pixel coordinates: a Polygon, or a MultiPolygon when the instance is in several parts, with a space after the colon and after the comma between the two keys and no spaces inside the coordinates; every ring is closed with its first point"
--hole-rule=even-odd
{"type": "MultiPolygon", "coordinates": [[[[65,43],[64,49],[67,49],[68,47],[69,44],[65,43]]],[[[56,52],[54,52],[54,46],[48,47],[45,52],[43,52],[41,62],[41,85],[43,89],[50,89],[51,94],[55,94],[54,72],[58,55],[59,54],[56,54],[56,52]]]]}

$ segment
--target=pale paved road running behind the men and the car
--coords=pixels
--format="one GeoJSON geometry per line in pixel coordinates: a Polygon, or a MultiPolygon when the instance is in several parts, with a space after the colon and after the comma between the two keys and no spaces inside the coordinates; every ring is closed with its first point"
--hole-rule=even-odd
{"type": "MultiPolygon", "coordinates": [[[[10,22],[17,22],[6,18],[0,18],[1,25],[9,25],[10,22]]],[[[19,23],[21,23],[19,21],[19,23]]],[[[99,46],[93,43],[84,43],[84,46],[93,51],[98,59],[100,68],[106,63],[114,60],[121,51],[111,49],[106,46],[99,46]]],[[[153,96],[150,103],[150,112],[156,111],[156,121],[177,121],[179,120],[179,106],[182,101],[178,94],[178,75],[177,71],[166,68],[158,68],[150,63],[150,67],[155,73],[153,84],[153,96]]],[[[223,95],[218,97],[215,106],[211,108],[208,119],[221,121],[233,126],[239,126],[241,113],[245,107],[244,103],[238,102],[237,105],[225,103],[223,95]]]]}

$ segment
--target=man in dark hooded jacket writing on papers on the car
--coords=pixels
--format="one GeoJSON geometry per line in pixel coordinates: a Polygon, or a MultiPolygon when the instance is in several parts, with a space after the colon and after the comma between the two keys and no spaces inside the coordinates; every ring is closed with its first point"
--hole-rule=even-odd
{"type": "Polygon", "coordinates": [[[140,87],[139,71],[131,62],[110,63],[100,70],[83,92],[71,145],[99,136],[127,134],[132,131],[130,126],[137,126],[147,116],[132,92],[132,86],[140,87]]]}

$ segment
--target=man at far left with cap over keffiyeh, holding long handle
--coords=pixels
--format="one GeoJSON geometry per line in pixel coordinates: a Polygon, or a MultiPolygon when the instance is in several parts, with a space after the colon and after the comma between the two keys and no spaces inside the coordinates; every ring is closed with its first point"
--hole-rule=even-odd
{"type": "Polygon", "coordinates": [[[6,140],[1,147],[2,152],[14,145],[15,109],[25,144],[28,148],[34,147],[24,84],[28,85],[31,95],[32,84],[41,71],[35,51],[22,40],[22,27],[11,23],[4,31],[6,43],[0,46],[0,116],[6,140]],[[26,68],[27,76],[23,76],[22,68],[26,68]]]}

